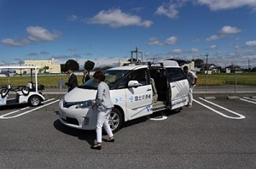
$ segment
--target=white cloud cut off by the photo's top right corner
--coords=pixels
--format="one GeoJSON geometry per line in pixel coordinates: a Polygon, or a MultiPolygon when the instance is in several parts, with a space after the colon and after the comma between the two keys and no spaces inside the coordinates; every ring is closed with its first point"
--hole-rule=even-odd
{"type": "Polygon", "coordinates": [[[211,10],[224,10],[232,8],[256,8],[255,0],[197,0],[197,3],[207,5],[211,10]]]}

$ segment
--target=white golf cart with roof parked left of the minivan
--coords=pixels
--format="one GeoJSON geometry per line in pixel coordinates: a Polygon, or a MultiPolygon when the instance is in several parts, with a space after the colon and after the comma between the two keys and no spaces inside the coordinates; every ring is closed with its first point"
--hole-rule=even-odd
{"type": "MultiPolygon", "coordinates": [[[[30,71],[31,80],[24,86],[14,87],[8,82],[7,87],[0,87],[0,106],[11,104],[29,104],[38,106],[44,101],[42,90],[44,85],[38,85],[38,69],[36,66],[0,66],[0,70],[21,70],[30,71]],[[33,82],[34,79],[34,82],[33,82]],[[15,98],[9,99],[9,95],[15,93],[15,98]]],[[[29,74],[28,74],[29,75],[29,74]]],[[[7,76],[9,80],[9,76],[7,76]]],[[[19,78],[17,76],[17,78],[19,78]]],[[[2,78],[3,79],[3,78],[2,78]]]]}

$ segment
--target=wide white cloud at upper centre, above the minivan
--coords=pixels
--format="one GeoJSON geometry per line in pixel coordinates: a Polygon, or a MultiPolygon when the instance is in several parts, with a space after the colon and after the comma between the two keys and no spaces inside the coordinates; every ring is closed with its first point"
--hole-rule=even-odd
{"type": "Polygon", "coordinates": [[[152,20],[142,20],[137,15],[125,14],[119,8],[102,10],[94,17],[89,19],[91,24],[110,25],[111,27],[121,27],[128,25],[139,25],[150,27],[154,24],[152,20]]]}

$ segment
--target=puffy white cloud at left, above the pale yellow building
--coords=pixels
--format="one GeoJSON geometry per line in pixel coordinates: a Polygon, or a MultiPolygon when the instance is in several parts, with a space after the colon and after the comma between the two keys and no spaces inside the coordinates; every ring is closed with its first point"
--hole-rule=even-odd
{"type": "Polygon", "coordinates": [[[53,41],[61,36],[60,32],[49,32],[40,26],[29,26],[26,31],[29,34],[28,38],[32,41],[53,41]]]}

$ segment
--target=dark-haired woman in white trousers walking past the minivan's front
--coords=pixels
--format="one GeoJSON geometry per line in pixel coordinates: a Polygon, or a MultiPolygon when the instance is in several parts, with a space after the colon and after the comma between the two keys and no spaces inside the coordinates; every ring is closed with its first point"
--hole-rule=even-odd
{"type": "Polygon", "coordinates": [[[105,81],[106,76],[101,70],[97,70],[93,77],[95,82],[99,83],[96,93],[96,102],[92,104],[92,109],[97,110],[96,122],[96,144],[92,145],[91,149],[102,149],[102,127],[108,134],[106,142],[114,142],[113,132],[109,126],[110,112],[113,108],[113,103],[110,99],[109,87],[105,81]]]}

